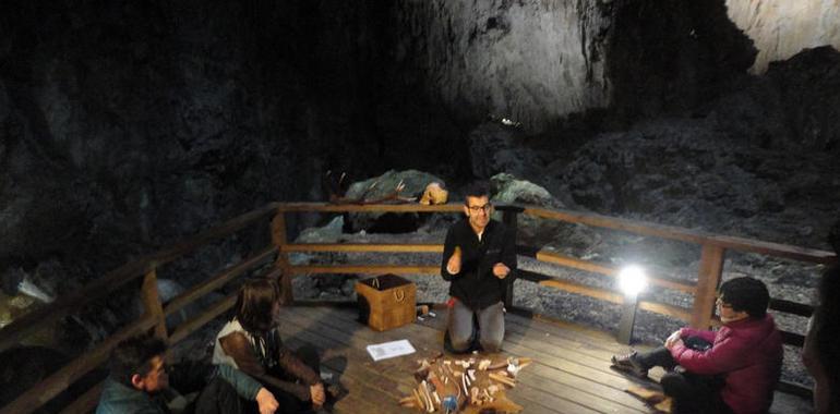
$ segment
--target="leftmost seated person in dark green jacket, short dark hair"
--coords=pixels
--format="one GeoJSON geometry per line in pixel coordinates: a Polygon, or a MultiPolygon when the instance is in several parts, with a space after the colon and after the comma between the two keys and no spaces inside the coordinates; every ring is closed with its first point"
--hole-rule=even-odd
{"type": "MultiPolygon", "coordinates": [[[[96,413],[169,413],[164,392],[173,390],[169,388],[165,354],[166,343],[157,338],[141,336],[120,342],[111,355],[111,375],[105,382],[96,413]]],[[[230,367],[218,369],[217,375],[239,395],[256,401],[261,414],[277,410],[274,395],[249,376],[230,367]]]]}

